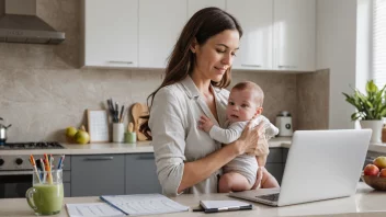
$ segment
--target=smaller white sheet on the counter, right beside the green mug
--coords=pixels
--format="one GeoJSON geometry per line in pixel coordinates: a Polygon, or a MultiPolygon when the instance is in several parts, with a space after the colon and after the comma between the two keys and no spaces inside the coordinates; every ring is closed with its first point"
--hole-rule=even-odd
{"type": "Polygon", "coordinates": [[[105,203],[66,204],[70,217],[123,217],[126,216],[118,209],[105,203]]]}

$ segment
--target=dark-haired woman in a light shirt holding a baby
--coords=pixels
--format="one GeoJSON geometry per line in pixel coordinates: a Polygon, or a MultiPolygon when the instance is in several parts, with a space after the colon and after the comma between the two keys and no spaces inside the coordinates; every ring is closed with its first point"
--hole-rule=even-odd
{"type": "Polygon", "coordinates": [[[230,83],[241,35],[227,12],[217,8],[196,12],[182,30],[163,82],[149,95],[149,121],[141,132],[151,129],[158,179],[167,195],[216,193],[223,165],[245,152],[268,149],[257,147],[259,127],[248,125],[237,141],[223,148],[197,128],[202,115],[218,126],[225,124],[229,91],[224,88],[230,83]]]}

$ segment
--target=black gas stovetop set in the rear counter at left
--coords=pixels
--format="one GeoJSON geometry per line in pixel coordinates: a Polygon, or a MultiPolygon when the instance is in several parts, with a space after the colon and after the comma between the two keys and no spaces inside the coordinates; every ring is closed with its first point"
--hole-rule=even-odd
{"type": "Polygon", "coordinates": [[[39,142],[9,142],[0,145],[0,150],[15,150],[15,149],[63,149],[57,141],[39,141],[39,142]]]}

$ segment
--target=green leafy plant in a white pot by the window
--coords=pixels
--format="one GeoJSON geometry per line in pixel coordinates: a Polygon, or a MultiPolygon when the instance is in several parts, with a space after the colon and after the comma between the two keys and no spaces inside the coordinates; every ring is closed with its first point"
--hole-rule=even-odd
{"type": "Polygon", "coordinates": [[[386,94],[384,85],[381,90],[373,80],[366,83],[366,95],[354,89],[354,94],[345,95],[345,101],[354,105],[356,112],[351,115],[352,121],[360,121],[362,128],[373,129],[373,142],[381,142],[383,119],[386,116],[386,94]]]}

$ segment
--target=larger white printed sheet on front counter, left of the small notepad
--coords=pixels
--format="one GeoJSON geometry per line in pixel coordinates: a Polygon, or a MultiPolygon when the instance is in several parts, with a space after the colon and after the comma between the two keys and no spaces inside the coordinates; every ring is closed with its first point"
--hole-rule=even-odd
{"type": "Polygon", "coordinates": [[[182,206],[160,194],[101,196],[101,198],[129,216],[189,210],[188,206],[182,206]]]}

